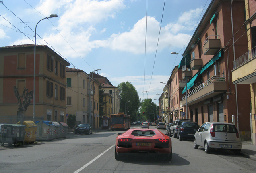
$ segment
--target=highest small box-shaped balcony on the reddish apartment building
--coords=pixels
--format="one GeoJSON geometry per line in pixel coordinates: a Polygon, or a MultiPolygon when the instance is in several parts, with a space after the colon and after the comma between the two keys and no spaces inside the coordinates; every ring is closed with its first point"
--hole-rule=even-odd
{"type": "Polygon", "coordinates": [[[204,41],[204,55],[215,55],[221,48],[219,36],[208,36],[204,41]]]}

